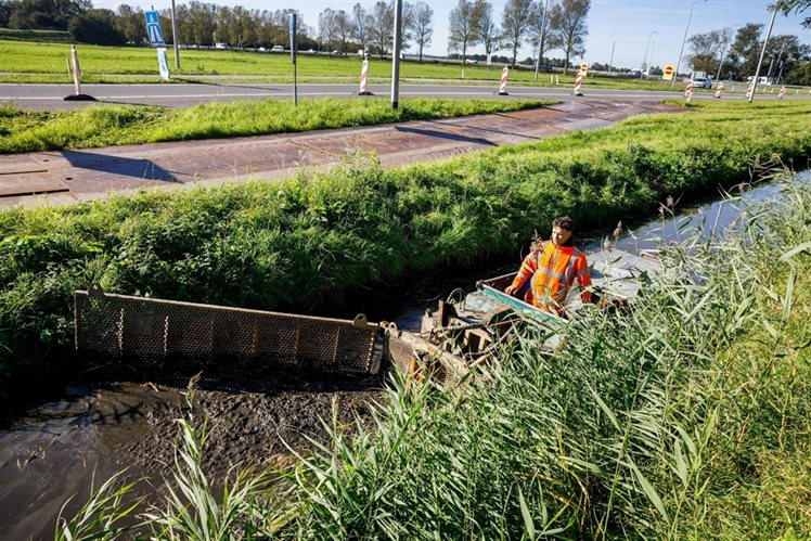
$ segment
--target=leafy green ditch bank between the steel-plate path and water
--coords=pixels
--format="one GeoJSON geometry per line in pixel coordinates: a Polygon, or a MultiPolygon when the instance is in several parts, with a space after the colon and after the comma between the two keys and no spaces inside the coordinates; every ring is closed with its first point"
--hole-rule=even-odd
{"type": "Polygon", "coordinates": [[[600,227],[667,194],[749,180],[751,164],[772,156],[804,165],[809,110],[713,103],[395,170],[358,159],[281,183],[0,212],[0,398],[59,385],[73,292],[92,282],[258,309],[342,302],[513,253],[557,215],[600,227]]]}

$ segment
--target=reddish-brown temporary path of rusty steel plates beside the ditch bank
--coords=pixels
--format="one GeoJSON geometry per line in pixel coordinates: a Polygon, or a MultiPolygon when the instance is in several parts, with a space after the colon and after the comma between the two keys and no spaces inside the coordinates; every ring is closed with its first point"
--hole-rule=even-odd
{"type": "Polygon", "coordinates": [[[66,204],[111,191],[278,179],[374,152],[383,167],[602,128],[673,111],[654,102],[571,101],[532,111],[253,138],[181,141],[0,156],[0,208],[66,204]]]}

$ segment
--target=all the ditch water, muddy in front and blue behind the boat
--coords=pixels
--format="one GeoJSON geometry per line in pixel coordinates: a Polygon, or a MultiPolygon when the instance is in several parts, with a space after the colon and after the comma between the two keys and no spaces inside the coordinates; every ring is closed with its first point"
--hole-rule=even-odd
{"type": "MultiPolygon", "coordinates": [[[[803,177],[811,179],[808,173],[803,177]]],[[[780,188],[757,188],[743,198],[778,197],[780,188]]],[[[706,234],[719,234],[735,222],[741,204],[716,201],[677,210],[675,219],[632,227],[632,234],[621,239],[618,247],[653,248],[701,222],[706,234]]],[[[587,246],[598,249],[603,233],[592,236],[587,246]]],[[[455,287],[469,289],[482,276],[512,271],[519,261],[516,255],[489,270],[454,273],[439,281],[416,279],[408,292],[369,295],[370,300],[358,302],[356,311],[365,312],[371,321],[391,320],[401,329],[419,329],[425,308],[435,306],[437,298],[455,287]]],[[[330,418],[335,409],[342,423],[350,422],[355,415],[365,415],[369,400],[381,396],[381,382],[374,378],[279,376],[256,382],[249,375],[204,374],[190,409],[188,376],[73,384],[61,400],[31,410],[11,429],[0,431],[0,539],[52,538],[60,508],[73,495],[65,510],[66,516],[73,516],[87,501],[93,475],[103,480],[128,468],[129,478],[149,477],[159,486],[173,468],[176,420],[183,414],[210,420],[204,468],[218,479],[235,464],[261,466],[288,460],[288,446],[306,450],[306,436],[325,437],[320,417],[330,418]]],[[[155,500],[159,489],[142,486],[140,490],[155,500]]]]}

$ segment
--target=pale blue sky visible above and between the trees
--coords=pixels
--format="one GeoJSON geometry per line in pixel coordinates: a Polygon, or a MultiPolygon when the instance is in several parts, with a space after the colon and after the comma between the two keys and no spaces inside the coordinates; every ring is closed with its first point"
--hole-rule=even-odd
{"type": "MultiPolygon", "coordinates": [[[[205,0],[209,1],[209,0],[205,0]]],[[[350,11],[360,1],[361,5],[371,10],[375,0],[296,0],[295,2],[269,0],[213,0],[218,5],[242,5],[246,9],[281,10],[294,7],[305,17],[305,23],[317,27],[318,14],[324,8],[350,11]]],[[[425,50],[426,54],[446,55],[448,53],[448,17],[458,0],[423,0],[434,10],[434,37],[432,44],[425,50]]],[[[501,20],[501,11],[505,0],[490,0],[497,20],[501,20]]],[[[549,0],[550,5],[555,0],[549,0]]],[[[763,35],[769,26],[771,12],[767,5],[772,0],[592,0],[589,12],[589,36],[585,40],[585,54],[582,59],[575,59],[589,64],[598,62],[627,68],[639,68],[645,61],[645,51],[652,66],[675,65],[679,50],[684,39],[685,28],[687,38],[694,34],[704,34],[713,29],[747,23],[763,25],[763,35]],[[691,8],[693,9],[692,17],[691,8]],[[690,26],[687,27],[687,20],[690,26]]],[[[171,5],[171,0],[93,0],[95,8],[115,10],[119,3],[128,3],[144,10],[154,7],[157,10],[171,5]]],[[[176,0],[179,5],[182,0],[176,0]]],[[[781,13],[774,21],[772,36],[791,34],[800,41],[811,46],[811,29],[803,29],[801,22],[811,16],[811,10],[803,14],[785,16],[781,13]]],[[[164,29],[167,31],[168,29],[164,29]]],[[[413,46],[412,46],[413,51],[413,46]]],[[[684,46],[683,56],[690,52],[690,44],[684,46]]],[[[471,53],[484,53],[481,47],[475,47],[471,53]]],[[[501,51],[499,54],[509,55],[501,51]]],[[[525,44],[518,59],[533,56],[529,44],[525,44]]],[[[563,51],[552,50],[544,56],[564,57],[563,51]]],[[[682,69],[686,69],[682,61],[682,69]]]]}

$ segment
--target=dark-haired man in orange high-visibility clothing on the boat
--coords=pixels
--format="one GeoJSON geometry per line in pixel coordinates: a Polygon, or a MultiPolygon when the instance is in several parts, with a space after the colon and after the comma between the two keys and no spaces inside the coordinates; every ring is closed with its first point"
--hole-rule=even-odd
{"type": "Polygon", "coordinates": [[[513,283],[504,289],[518,294],[529,281],[524,300],[550,313],[563,315],[566,296],[575,280],[580,286],[583,302],[591,302],[591,274],[585,254],[572,243],[574,222],[568,216],[552,221],[552,241],[541,246],[536,243],[524,259],[513,283]]]}

